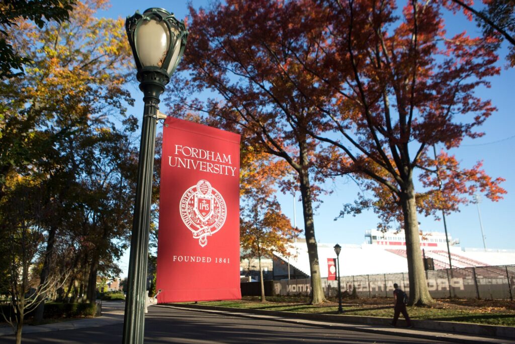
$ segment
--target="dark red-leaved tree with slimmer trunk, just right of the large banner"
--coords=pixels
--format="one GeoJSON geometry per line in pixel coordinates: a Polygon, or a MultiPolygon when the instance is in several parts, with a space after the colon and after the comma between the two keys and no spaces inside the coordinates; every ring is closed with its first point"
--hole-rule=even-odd
{"type": "MultiPolygon", "coordinates": [[[[286,50],[278,52],[279,56],[274,52],[283,35],[293,35],[284,39],[294,39],[295,33],[288,32],[288,25],[301,12],[288,13],[276,2],[228,1],[198,12],[191,8],[189,28],[193,39],[181,64],[191,75],[186,85],[193,90],[214,91],[221,101],[201,102],[188,97],[180,102],[186,104],[183,111],[207,113],[212,125],[241,133],[243,146],[259,147],[259,151],[287,162],[301,193],[312,302],[320,303],[325,298],[313,207],[321,192],[322,176],[313,173],[318,141],[309,132],[321,129],[321,113],[280,73],[283,64],[291,63],[291,71],[299,72],[299,83],[313,97],[325,95],[301,65],[283,55],[288,55],[286,50]]],[[[307,54],[312,46],[305,48],[307,54]]],[[[290,181],[291,177],[286,179],[290,181]]]]}

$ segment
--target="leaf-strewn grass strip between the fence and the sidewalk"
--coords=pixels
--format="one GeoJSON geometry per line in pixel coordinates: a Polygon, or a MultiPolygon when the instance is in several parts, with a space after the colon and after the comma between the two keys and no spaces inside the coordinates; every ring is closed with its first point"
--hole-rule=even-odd
{"type": "MultiPolygon", "coordinates": [[[[338,301],[331,299],[320,305],[310,305],[302,297],[244,297],[235,301],[199,302],[199,305],[254,308],[280,312],[336,314],[338,301]]],[[[393,316],[392,299],[344,300],[343,315],[385,317],[393,316]]],[[[478,324],[515,326],[515,302],[510,300],[435,300],[430,307],[407,307],[409,317],[418,320],[472,322],[478,324]]]]}

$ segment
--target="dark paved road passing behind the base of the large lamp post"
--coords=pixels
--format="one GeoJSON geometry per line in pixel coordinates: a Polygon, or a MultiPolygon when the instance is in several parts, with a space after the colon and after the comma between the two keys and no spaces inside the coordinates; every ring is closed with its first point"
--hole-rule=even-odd
{"type": "MultiPolygon", "coordinates": [[[[77,327],[39,333],[24,333],[24,343],[92,343],[113,344],[122,341],[123,324],[119,321],[120,305],[105,304],[118,321],[105,326],[77,327]],[[118,309],[116,309],[118,307],[118,309]]],[[[123,312],[123,310],[122,310],[123,312]]],[[[92,319],[96,320],[96,319],[92,319]]],[[[109,322],[108,322],[109,323],[109,322]]],[[[28,332],[28,331],[27,331],[28,332]]],[[[12,343],[14,337],[0,337],[0,343],[12,343]]],[[[190,309],[149,307],[145,319],[145,343],[438,343],[428,339],[383,335],[377,333],[327,329],[290,324],[274,320],[234,317],[190,309]]]]}

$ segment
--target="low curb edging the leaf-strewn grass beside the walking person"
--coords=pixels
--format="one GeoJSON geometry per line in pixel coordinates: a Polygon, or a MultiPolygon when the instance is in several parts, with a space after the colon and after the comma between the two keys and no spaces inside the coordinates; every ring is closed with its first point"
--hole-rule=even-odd
{"type": "MultiPolygon", "coordinates": [[[[165,304],[163,304],[165,305],[165,304]]],[[[380,325],[380,326],[389,326],[391,319],[390,318],[380,318],[380,317],[360,317],[360,316],[349,316],[349,315],[332,315],[332,314],[310,314],[310,313],[293,313],[293,312],[278,312],[274,310],[262,310],[262,309],[248,309],[248,308],[231,308],[231,307],[218,307],[218,306],[204,306],[204,305],[196,305],[196,304],[167,304],[168,306],[174,307],[182,307],[182,308],[191,308],[198,310],[216,310],[219,312],[231,312],[237,316],[246,316],[249,315],[265,315],[271,317],[278,317],[279,319],[286,322],[291,322],[292,319],[299,320],[317,320],[317,321],[325,321],[326,324],[318,323],[317,326],[324,327],[335,327],[342,324],[364,324],[364,325],[380,325]],[[281,319],[284,317],[288,317],[288,319],[281,319]]],[[[509,342],[515,343],[515,327],[510,326],[496,326],[496,325],[483,325],[483,324],[472,324],[472,323],[462,323],[462,322],[451,322],[451,321],[434,321],[434,320],[411,320],[414,325],[415,330],[428,330],[435,331],[434,334],[421,334],[417,333],[414,335],[413,332],[403,332],[398,331],[394,334],[399,336],[416,336],[424,339],[439,339],[445,341],[454,341],[461,343],[485,343],[487,340],[492,340],[492,337],[497,337],[499,339],[508,340],[509,342]],[[443,332],[443,333],[442,333],[443,332]],[[463,336],[457,336],[453,338],[449,336],[449,334],[456,335],[472,335],[483,338],[464,338],[463,336]],[[487,338],[485,338],[487,337],[487,338]]],[[[400,326],[405,325],[404,319],[399,319],[400,326]]],[[[370,327],[354,327],[349,329],[347,326],[346,330],[353,331],[363,331],[363,332],[376,332],[381,334],[392,334],[392,331],[381,330],[381,329],[371,329],[370,327]]],[[[398,330],[403,330],[403,327],[397,327],[398,330]]],[[[407,329],[406,329],[407,330],[407,329]]]]}

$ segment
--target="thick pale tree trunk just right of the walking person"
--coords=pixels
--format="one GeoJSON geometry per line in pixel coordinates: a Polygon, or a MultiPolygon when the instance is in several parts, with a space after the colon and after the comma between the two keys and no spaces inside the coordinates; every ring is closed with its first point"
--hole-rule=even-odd
{"type": "Polygon", "coordinates": [[[424,262],[420,250],[417,205],[413,181],[407,183],[402,191],[401,204],[404,215],[404,234],[408,261],[409,305],[428,305],[433,303],[425,278],[424,262]]]}

